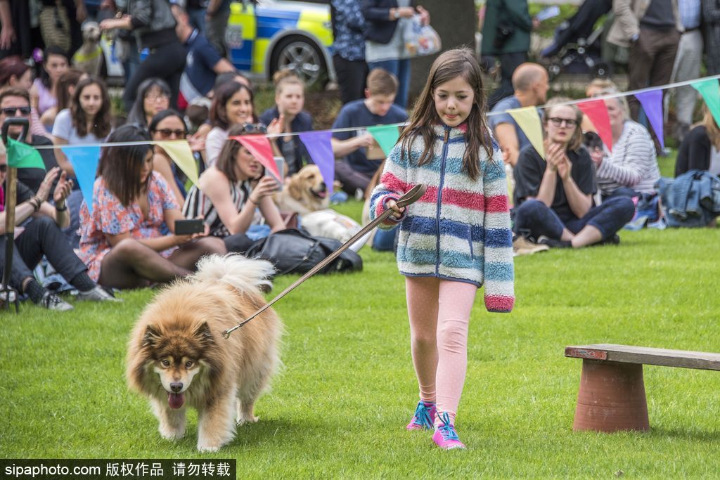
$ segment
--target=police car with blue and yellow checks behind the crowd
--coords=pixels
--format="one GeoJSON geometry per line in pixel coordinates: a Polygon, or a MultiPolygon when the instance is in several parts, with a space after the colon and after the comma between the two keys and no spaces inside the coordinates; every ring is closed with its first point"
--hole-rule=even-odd
{"type": "MultiPolygon", "coordinates": [[[[96,13],[100,0],[86,0],[96,13]]],[[[310,86],[335,81],[333,30],[330,7],[306,1],[242,0],[230,4],[225,32],[230,61],[243,73],[270,80],[273,73],[291,68],[310,86]]],[[[109,45],[109,76],[122,76],[122,65],[109,45]],[[118,73],[119,72],[119,73],[118,73]]]]}

